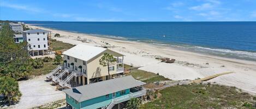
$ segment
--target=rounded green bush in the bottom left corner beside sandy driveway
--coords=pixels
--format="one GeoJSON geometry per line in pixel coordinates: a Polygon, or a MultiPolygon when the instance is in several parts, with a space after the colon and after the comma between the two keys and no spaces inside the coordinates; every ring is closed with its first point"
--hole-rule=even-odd
{"type": "Polygon", "coordinates": [[[15,104],[21,97],[18,82],[10,76],[0,77],[0,94],[4,96],[4,103],[15,104]]]}

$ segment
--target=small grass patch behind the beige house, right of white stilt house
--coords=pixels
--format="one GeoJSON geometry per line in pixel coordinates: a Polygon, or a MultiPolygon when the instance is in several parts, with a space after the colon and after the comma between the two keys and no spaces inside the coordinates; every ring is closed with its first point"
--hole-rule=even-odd
{"type": "Polygon", "coordinates": [[[52,40],[52,50],[56,51],[56,50],[63,50],[63,49],[69,49],[74,47],[75,45],[70,44],[70,43],[64,43],[62,41],[56,41],[56,40],[52,40]]]}

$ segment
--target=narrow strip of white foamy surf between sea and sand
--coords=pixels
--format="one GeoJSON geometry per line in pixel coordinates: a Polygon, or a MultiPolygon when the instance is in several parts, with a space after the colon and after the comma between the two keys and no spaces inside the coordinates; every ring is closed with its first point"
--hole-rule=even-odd
{"type": "Polygon", "coordinates": [[[41,24],[27,24],[27,25],[34,26],[37,28],[44,28],[49,30],[64,31],[67,33],[98,37],[102,39],[145,43],[145,44],[150,44],[150,45],[159,46],[159,47],[170,47],[171,49],[185,51],[185,52],[192,52],[192,53],[210,55],[215,57],[223,57],[223,58],[234,59],[234,60],[246,60],[246,61],[256,62],[256,52],[254,51],[235,50],[235,49],[228,49],[228,48],[215,48],[215,47],[200,46],[200,45],[193,45],[193,44],[186,44],[186,43],[166,43],[166,42],[153,41],[153,40],[146,40],[146,41],[133,40],[133,39],[128,39],[122,36],[119,37],[119,36],[113,36],[113,35],[79,33],[78,31],[58,30],[55,28],[46,28],[46,27],[38,26],[41,24]]]}

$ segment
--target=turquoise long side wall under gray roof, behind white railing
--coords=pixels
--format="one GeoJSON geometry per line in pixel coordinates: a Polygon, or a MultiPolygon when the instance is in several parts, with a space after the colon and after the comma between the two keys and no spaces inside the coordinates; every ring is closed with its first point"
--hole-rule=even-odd
{"type": "MultiPolygon", "coordinates": [[[[123,95],[127,95],[130,93],[130,89],[126,89],[126,93],[123,95]]],[[[123,95],[120,95],[120,92],[116,92],[116,97],[121,97],[123,95]]],[[[93,108],[99,108],[99,107],[103,107],[106,106],[108,104],[110,104],[110,102],[112,101],[112,93],[109,94],[109,98],[106,98],[105,95],[101,96],[101,97],[97,97],[97,98],[93,98],[90,100],[86,100],[86,101],[82,101],[81,102],[81,108],[82,109],[93,109],[93,108]]]]}

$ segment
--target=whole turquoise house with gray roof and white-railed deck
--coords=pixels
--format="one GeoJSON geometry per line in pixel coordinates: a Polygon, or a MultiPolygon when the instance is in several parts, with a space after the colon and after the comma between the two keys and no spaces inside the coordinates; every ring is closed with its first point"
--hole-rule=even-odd
{"type": "Polygon", "coordinates": [[[141,98],[146,94],[142,87],[145,82],[124,76],[84,86],[64,89],[67,108],[110,109],[122,108],[131,98],[141,98]]]}

